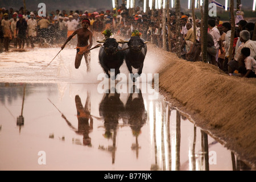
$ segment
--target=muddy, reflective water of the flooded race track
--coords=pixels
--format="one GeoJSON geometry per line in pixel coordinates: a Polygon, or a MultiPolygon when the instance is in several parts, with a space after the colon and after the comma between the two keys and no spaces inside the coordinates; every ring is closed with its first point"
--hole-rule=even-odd
{"type": "MultiPolygon", "coordinates": [[[[124,79],[127,92],[118,94],[98,79],[97,50],[92,73],[85,73],[84,61],[74,68],[72,47],[46,67],[57,52],[0,54],[1,170],[241,169],[232,152],[164,101],[150,80],[134,88],[124,79]]],[[[156,72],[158,56],[148,53],[144,73],[156,72]]],[[[127,75],[125,65],[121,73],[127,75]]]]}

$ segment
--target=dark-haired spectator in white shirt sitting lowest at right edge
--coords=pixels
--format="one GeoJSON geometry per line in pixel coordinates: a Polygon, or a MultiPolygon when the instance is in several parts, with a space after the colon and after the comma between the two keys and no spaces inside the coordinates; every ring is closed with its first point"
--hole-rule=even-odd
{"type": "Polygon", "coordinates": [[[241,50],[241,60],[244,65],[238,68],[238,72],[241,73],[242,77],[251,78],[256,77],[256,60],[250,56],[250,48],[244,47],[241,50]]]}

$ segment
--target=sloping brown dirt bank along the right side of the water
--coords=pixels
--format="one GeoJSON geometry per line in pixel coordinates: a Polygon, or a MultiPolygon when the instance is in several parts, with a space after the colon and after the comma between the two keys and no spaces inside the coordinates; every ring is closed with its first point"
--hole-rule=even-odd
{"type": "Polygon", "coordinates": [[[255,169],[256,78],[229,76],[213,65],[158,51],[164,59],[160,93],[255,169]]]}

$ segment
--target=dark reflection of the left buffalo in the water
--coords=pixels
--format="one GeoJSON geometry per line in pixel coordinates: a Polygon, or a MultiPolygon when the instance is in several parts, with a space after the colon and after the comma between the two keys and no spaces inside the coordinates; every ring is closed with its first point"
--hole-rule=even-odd
{"type": "Polygon", "coordinates": [[[117,92],[113,94],[106,93],[100,103],[100,116],[104,118],[105,137],[112,137],[111,130],[116,130],[119,118],[122,117],[125,107],[120,100],[120,94],[117,92]]]}

